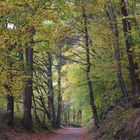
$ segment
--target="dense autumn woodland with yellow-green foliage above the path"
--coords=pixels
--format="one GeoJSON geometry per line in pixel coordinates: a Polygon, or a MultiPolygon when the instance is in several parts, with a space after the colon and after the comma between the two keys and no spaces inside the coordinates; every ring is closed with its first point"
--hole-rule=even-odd
{"type": "Polygon", "coordinates": [[[0,1],[2,130],[100,129],[139,107],[139,0],[0,1]]]}

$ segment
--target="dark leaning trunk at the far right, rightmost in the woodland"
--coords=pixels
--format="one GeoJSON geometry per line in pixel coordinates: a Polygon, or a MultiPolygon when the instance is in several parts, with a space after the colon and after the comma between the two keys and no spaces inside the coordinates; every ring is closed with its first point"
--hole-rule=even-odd
{"type": "Polygon", "coordinates": [[[130,70],[130,77],[131,77],[131,83],[132,83],[132,91],[134,95],[134,99],[140,95],[140,88],[138,83],[138,77],[135,71],[135,61],[133,57],[133,46],[132,46],[132,36],[131,36],[131,25],[128,20],[128,10],[127,10],[127,4],[125,0],[121,0],[121,12],[124,18],[122,19],[123,24],[123,31],[124,31],[124,37],[125,37],[125,44],[126,44],[126,51],[127,51],[127,57],[129,62],[129,70],[130,70]]]}

